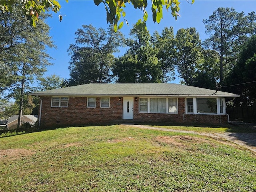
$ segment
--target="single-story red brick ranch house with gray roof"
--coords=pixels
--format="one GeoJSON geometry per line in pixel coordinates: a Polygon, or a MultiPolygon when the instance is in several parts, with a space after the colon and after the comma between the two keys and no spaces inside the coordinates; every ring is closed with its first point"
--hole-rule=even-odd
{"type": "Polygon", "coordinates": [[[239,95],[180,84],[84,84],[31,93],[44,126],[104,122],[227,123],[239,95]]]}

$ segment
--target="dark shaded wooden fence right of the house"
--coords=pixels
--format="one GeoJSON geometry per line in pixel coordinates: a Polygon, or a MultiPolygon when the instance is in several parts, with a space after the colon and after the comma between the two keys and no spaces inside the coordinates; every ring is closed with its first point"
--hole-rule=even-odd
{"type": "Polygon", "coordinates": [[[227,107],[227,114],[230,118],[256,118],[256,105],[245,107],[227,107]]]}

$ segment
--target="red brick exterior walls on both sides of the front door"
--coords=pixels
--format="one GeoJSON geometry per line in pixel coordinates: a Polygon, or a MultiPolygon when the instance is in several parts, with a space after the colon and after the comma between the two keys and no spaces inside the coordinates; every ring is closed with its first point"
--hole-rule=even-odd
{"type": "MultiPolygon", "coordinates": [[[[100,97],[96,108],[87,108],[87,97],[69,97],[68,107],[51,107],[51,97],[42,98],[42,126],[70,126],[122,122],[123,98],[110,97],[110,108],[100,108],[100,97]]],[[[139,99],[134,98],[134,122],[214,123],[228,122],[226,115],[186,114],[185,98],[178,98],[178,114],[140,113],[139,99]]]]}

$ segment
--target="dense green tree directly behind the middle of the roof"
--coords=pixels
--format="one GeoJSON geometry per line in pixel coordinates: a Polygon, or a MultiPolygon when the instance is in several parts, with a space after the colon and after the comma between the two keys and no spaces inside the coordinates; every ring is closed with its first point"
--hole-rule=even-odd
{"type": "Polygon", "coordinates": [[[161,70],[158,66],[157,50],[150,43],[150,34],[135,26],[126,39],[129,50],[116,60],[113,74],[119,83],[158,83],[161,70]],[[128,75],[127,75],[128,74],[128,75]]]}

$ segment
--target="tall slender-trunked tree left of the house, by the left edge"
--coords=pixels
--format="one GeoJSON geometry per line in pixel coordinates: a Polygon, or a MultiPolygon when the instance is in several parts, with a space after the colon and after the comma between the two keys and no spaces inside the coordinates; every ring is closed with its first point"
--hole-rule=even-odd
{"type": "Polygon", "coordinates": [[[46,66],[51,64],[46,48],[54,47],[49,36],[50,28],[44,23],[49,15],[42,14],[42,19],[34,28],[20,10],[21,4],[20,1],[13,1],[11,13],[0,12],[1,99],[14,98],[18,102],[18,126],[21,123],[26,92],[46,72],[46,66]]]}

